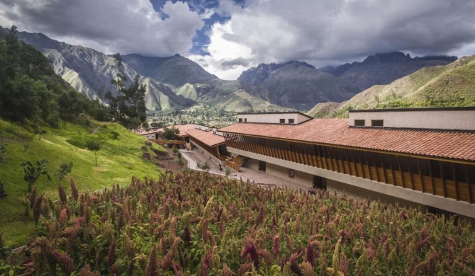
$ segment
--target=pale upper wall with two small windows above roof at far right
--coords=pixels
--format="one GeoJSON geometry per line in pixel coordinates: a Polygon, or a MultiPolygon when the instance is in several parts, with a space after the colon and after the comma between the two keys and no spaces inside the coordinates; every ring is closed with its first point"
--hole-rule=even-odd
{"type": "Polygon", "coordinates": [[[348,120],[350,126],[354,120],[364,120],[365,127],[371,127],[371,120],[384,120],[384,127],[475,130],[475,110],[350,111],[348,120]]]}

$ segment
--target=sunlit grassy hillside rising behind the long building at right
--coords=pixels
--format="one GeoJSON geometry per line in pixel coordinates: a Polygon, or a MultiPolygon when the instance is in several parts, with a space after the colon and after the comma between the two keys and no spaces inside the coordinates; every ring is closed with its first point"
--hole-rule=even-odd
{"type": "Polygon", "coordinates": [[[424,67],[389,85],[372,86],[342,103],[319,103],[313,117],[347,117],[350,109],[475,106],[475,56],[424,67]]]}

